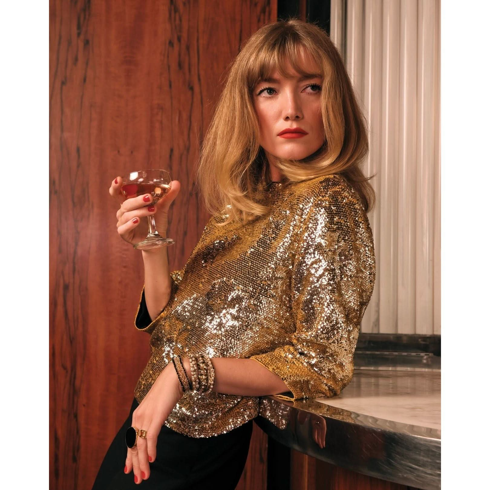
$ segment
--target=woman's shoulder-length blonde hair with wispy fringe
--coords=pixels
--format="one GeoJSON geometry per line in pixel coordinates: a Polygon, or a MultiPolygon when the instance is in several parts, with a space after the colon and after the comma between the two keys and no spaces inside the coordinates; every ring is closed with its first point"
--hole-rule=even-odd
{"type": "Polygon", "coordinates": [[[368,154],[367,122],[339,51],[317,25],[290,18],[262,26],[232,61],[202,144],[197,183],[206,209],[211,214],[228,214],[222,225],[246,223],[270,209],[265,201],[269,165],[258,143],[252,91],[276,69],[288,76],[286,60],[297,73],[311,75],[300,66],[303,49],[316,61],[322,76],[325,140],[302,160],[276,158],[274,164],[284,175],[284,185],[340,173],[358,192],[366,211],[374,206],[375,194],[368,182],[373,176],[365,177],[360,168],[368,154]]]}

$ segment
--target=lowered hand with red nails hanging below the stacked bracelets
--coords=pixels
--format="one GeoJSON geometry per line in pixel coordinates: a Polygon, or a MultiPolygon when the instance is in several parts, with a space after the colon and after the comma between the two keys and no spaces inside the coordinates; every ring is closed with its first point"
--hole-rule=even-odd
{"type": "Polygon", "coordinates": [[[158,434],[182,395],[177,373],[173,363],[170,362],[134,410],[131,425],[138,430],[147,431],[146,439],[137,437],[136,445],[127,449],[124,472],[129,473],[132,469],[135,483],[148,479],[150,475],[148,461],[155,461],[158,434]]]}

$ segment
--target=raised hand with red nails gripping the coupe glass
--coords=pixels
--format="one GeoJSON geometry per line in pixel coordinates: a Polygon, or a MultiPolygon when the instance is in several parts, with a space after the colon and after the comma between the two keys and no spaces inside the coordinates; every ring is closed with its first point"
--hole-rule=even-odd
{"type": "Polygon", "coordinates": [[[170,191],[166,196],[158,200],[153,206],[153,211],[149,210],[151,206],[147,206],[148,203],[144,200],[145,196],[150,196],[149,194],[126,199],[121,191],[122,186],[123,177],[118,176],[112,181],[109,188],[109,194],[117,199],[121,205],[116,213],[118,220],[116,226],[121,238],[131,245],[143,242],[148,235],[147,216],[150,215],[155,216],[156,229],[160,235],[165,236],[167,233],[169,207],[180,191],[180,182],[172,180],[170,191]]]}

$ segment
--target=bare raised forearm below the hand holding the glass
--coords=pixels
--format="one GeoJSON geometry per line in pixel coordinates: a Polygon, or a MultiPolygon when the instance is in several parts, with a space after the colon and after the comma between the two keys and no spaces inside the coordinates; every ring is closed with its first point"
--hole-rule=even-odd
{"type": "Polygon", "coordinates": [[[154,320],[169,302],[172,291],[167,247],[142,250],[141,253],[145,264],[145,300],[148,314],[154,320]]]}

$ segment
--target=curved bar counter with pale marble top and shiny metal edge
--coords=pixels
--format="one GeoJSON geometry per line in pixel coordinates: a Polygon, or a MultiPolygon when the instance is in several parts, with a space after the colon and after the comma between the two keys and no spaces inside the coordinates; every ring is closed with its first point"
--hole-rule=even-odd
{"type": "Polygon", "coordinates": [[[441,488],[441,372],[355,369],[343,392],[290,402],[261,398],[257,424],[330,464],[417,489],[441,488]]]}

